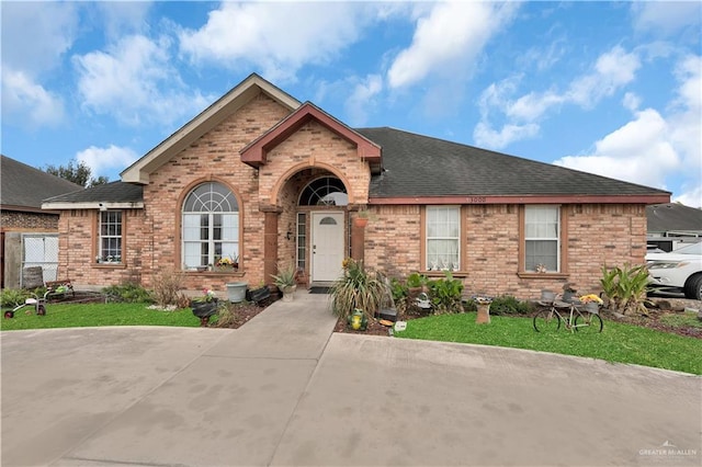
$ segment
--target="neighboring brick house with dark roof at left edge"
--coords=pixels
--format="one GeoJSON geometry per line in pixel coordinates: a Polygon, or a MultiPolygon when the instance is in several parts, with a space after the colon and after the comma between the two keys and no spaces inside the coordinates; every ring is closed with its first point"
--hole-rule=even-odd
{"type": "Polygon", "coordinates": [[[25,267],[42,266],[55,281],[58,266],[59,212],[42,210],[42,201],[83,187],[2,156],[0,166],[0,282],[23,284],[25,267]]]}

